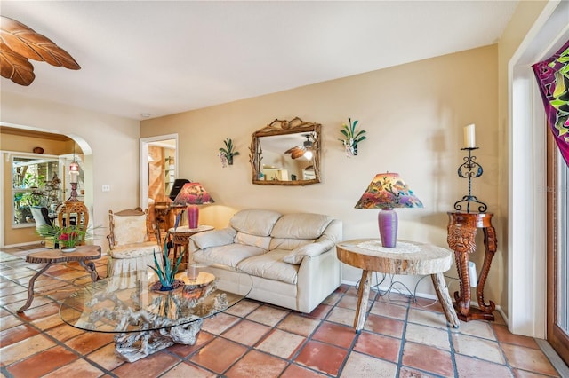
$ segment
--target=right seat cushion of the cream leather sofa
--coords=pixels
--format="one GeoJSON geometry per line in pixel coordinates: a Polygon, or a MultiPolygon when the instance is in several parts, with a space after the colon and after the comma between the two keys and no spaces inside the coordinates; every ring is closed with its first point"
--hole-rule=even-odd
{"type": "Polygon", "coordinates": [[[283,257],[290,251],[276,249],[254,256],[237,264],[241,271],[268,280],[278,280],[296,285],[299,265],[284,263],[283,257]]]}

